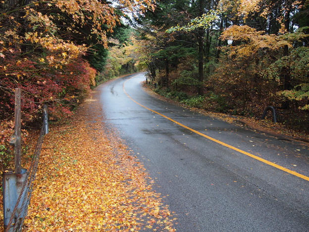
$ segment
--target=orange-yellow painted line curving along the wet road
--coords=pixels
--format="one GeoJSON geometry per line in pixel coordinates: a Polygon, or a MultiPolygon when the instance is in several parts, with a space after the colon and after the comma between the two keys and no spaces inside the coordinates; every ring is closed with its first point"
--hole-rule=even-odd
{"type": "Polygon", "coordinates": [[[170,121],[176,123],[177,125],[180,125],[180,126],[186,128],[186,129],[188,129],[188,130],[190,130],[190,131],[192,131],[192,132],[194,132],[194,133],[196,133],[196,134],[199,134],[199,135],[201,135],[201,136],[203,136],[203,137],[205,137],[205,138],[207,138],[207,139],[209,139],[209,140],[211,140],[211,141],[213,141],[213,142],[216,142],[216,143],[218,143],[218,144],[220,144],[220,145],[222,145],[222,146],[224,146],[224,147],[228,147],[228,148],[230,148],[230,149],[232,149],[232,150],[234,150],[234,151],[238,151],[238,152],[240,152],[240,153],[242,153],[242,154],[244,154],[244,155],[246,155],[246,156],[249,156],[249,157],[251,157],[251,158],[254,158],[254,159],[256,159],[256,160],[258,160],[258,161],[260,161],[260,162],[263,162],[263,163],[265,163],[265,164],[267,164],[267,165],[270,165],[270,166],[272,166],[272,167],[275,167],[275,168],[277,168],[277,169],[280,169],[280,170],[282,170],[282,171],[284,171],[284,172],[286,172],[286,173],[289,173],[289,174],[292,174],[292,175],[296,175],[296,176],[298,176],[298,177],[300,177],[300,178],[302,178],[302,179],[305,179],[305,180],[308,180],[308,181],[309,181],[309,177],[306,176],[306,175],[299,174],[299,173],[297,173],[297,172],[294,172],[294,171],[292,171],[292,170],[289,170],[289,169],[287,169],[287,168],[284,168],[284,167],[282,167],[282,166],[280,166],[280,165],[277,165],[277,164],[275,164],[275,163],[272,163],[272,162],[270,162],[270,161],[268,161],[268,160],[265,160],[265,159],[262,159],[262,158],[260,158],[260,157],[258,157],[258,156],[255,156],[255,155],[253,155],[253,154],[251,154],[251,153],[249,153],[249,152],[240,150],[240,149],[238,149],[238,148],[236,148],[236,147],[233,147],[233,146],[231,146],[231,145],[229,145],[229,144],[226,144],[226,143],[224,143],[224,142],[221,142],[221,141],[219,141],[219,140],[217,140],[217,139],[214,139],[214,138],[212,138],[212,137],[210,137],[210,136],[208,136],[208,135],[206,135],[206,134],[203,134],[203,133],[201,133],[201,132],[199,132],[199,131],[197,131],[197,130],[195,130],[195,129],[192,129],[192,128],[190,128],[190,127],[188,127],[188,126],[186,126],[186,125],[184,125],[184,124],[182,124],[182,123],[180,123],[180,122],[178,122],[178,121],[176,121],[176,120],[174,120],[174,119],[172,119],[172,118],[170,118],[170,117],[168,117],[168,116],[162,115],[162,114],[160,114],[159,112],[156,112],[156,111],[154,111],[154,110],[152,110],[152,109],[150,109],[150,108],[148,108],[148,107],[146,107],[146,106],[144,106],[144,105],[138,103],[137,101],[135,101],[135,100],[125,91],[124,85],[125,85],[125,83],[126,83],[128,80],[131,80],[132,78],[137,77],[137,76],[139,76],[139,75],[141,75],[141,74],[137,74],[137,75],[135,75],[135,76],[133,76],[133,77],[127,79],[127,80],[123,83],[123,85],[122,85],[123,92],[124,92],[133,102],[135,102],[135,103],[138,104],[139,106],[141,106],[141,107],[143,107],[143,108],[145,108],[145,109],[147,109],[147,110],[149,110],[149,111],[152,111],[152,112],[154,112],[155,114],[157,114],[157,115],[159,115],[159,116],[162,116],[162,117],[164,117],[164,118],[166,118],[166,119],[168,119],[168,120],[170,120],[170,121]]]}

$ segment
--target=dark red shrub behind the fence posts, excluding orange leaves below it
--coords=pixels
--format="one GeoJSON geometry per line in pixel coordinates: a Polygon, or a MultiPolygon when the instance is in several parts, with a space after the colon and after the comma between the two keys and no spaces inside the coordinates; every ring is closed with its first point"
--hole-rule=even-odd
{"type": "Polygon", "coordinates": [[[81,58],[62,68],[44,68],[44,64],[27,58],[16,63],[16,59],[17,56],[6,59],[5,65],[11,69],[0,75],[2,120],[14,113],[15,88],[21,89],[22,118],[32,122],[41,117],[43,104],[49,105],[52,114],[68,116],[67,110],[74,109],[90,85],[95,85],[97,71],[81,58]]]}

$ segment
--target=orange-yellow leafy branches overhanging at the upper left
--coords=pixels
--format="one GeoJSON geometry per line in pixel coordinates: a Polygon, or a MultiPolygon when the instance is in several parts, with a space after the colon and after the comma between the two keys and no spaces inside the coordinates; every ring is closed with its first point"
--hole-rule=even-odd
{"type": "MultiPolygon", "coordinates": [[[[6,15],[4,13],[13,25],[4,25],[6,28],[3,29],[1,24],[0,27],[2,38],[7,41],[9,46],[20,48],[19,44],[28,40],[24,44],[25,46],[32,46],[31,43],[41,49],[47,49],[48,56],[51,57],[50,60],[46,58],[48,63],[54,67],[61,67],[61,65],[84,55],[88,49],[85,45],[77,45],[74,39],[72,41],[63,40],[63,37],[73,38],[78,33],[86,38],[87,35],[83,35],[79,28],[87,23],[91,33],[89,38],[98,39],[98,42],[107,48],[107,33],[112,32],[120,21],[119,15],[121,13],[115,13],[114,7],[120,11],[137,12],[148,6],[153,7],[151,0],[121,0],[113,3],[97,0],[34,1],[20,9],[23,11],[21,17],[22,21],[25,21],[24,25],[18,22],[14,14],[8,13],[6,15]],[[38,5],[40,7],[37,7],[38,5]],[[63,13],[57,13],[61,11],[63,13]],[[69,17],[73,22],[63,20],[63,15],[69,17]],[[59,24],[59,22],[61,23],[59,24]],[[106,27],[102,25],[106,25],[106,27]],[[21,31],[25,31],[25,34],[20,33],[21,31]]],[[[0,50],[0,58],[5,58],[4,52],[0,50]]]]}

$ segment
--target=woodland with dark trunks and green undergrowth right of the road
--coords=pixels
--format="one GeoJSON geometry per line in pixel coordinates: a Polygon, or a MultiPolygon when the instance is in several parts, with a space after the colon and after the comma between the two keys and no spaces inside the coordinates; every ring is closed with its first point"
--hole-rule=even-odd
{"type": "Polygon", "coordinates": [[[309,131],[309,1],[163,0],[139,18],[157,92],[309,131]]]}

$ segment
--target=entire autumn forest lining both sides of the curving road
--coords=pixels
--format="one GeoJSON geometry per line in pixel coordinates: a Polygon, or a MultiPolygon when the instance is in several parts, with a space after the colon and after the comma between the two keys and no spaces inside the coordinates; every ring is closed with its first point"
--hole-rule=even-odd
{"type": "Polygon", "coordinates": [[[308,133],[308,16],[308,0],[2,0],[0,154],[15,88],[27,138],[44,104],[63,120],[91,88],[141,70],[191,107],[259,118],[273,106],[308,133]]]}

